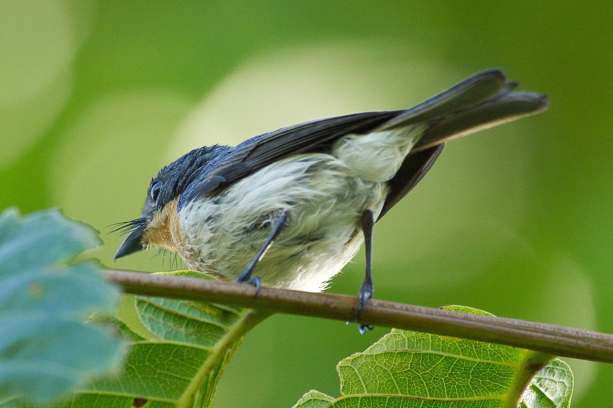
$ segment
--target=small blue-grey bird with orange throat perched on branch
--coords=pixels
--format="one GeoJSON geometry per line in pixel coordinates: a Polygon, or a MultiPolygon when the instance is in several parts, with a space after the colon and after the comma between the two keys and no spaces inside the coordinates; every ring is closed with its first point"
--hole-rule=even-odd
{"type": "MultiPolygon", "coordinates": [[[[194,271],[318,292],[365,243],[356,322],[373,297],[373,227],[432,168],[447,141],[544,111],[500,69],[408,109],[314,119],[237,146],[194,149],[151,179],[115,260],[150,247],[194,271]]],[[[359,324],[360,333],[370,326],[359,324]]]]}

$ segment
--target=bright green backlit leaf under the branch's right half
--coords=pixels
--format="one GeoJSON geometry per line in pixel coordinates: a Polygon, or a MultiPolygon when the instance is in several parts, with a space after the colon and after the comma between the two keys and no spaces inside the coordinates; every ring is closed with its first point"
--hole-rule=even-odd
{"type": "MultiPolygon", "coordinates": [[[[465,306],[446,309],[488,314],[465,306]]],[[[573,374],[555,357],[394,329],[337,365],[341,397],[309,391],[295,408],[568,408],[573,374]]]]}

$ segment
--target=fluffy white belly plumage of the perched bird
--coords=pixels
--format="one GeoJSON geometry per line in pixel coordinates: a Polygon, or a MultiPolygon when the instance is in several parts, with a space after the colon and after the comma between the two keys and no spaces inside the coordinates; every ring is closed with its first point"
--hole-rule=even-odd
{"type": "Polygon", "coordinates": [[[178,253],[190,269],[234,280],[270,235],[273,213],[286,210],[289,223],[254,275],[264,286],[322,291],[364,241],[362,212],[371,210],[375,218],[381,212],[386,182],[413,144],[406,131],[403,136],[405,146],[392,146],[383,176],[373,173],[374,166],[365,161],[373,160],[372,149],[337,144],[340,149],[333,154],[336,151],[338,157],[286,158],[216,195],[191,202],[179,213],[178,253]],[[366,157],[356,157],[356,152],[366,157]]]}

